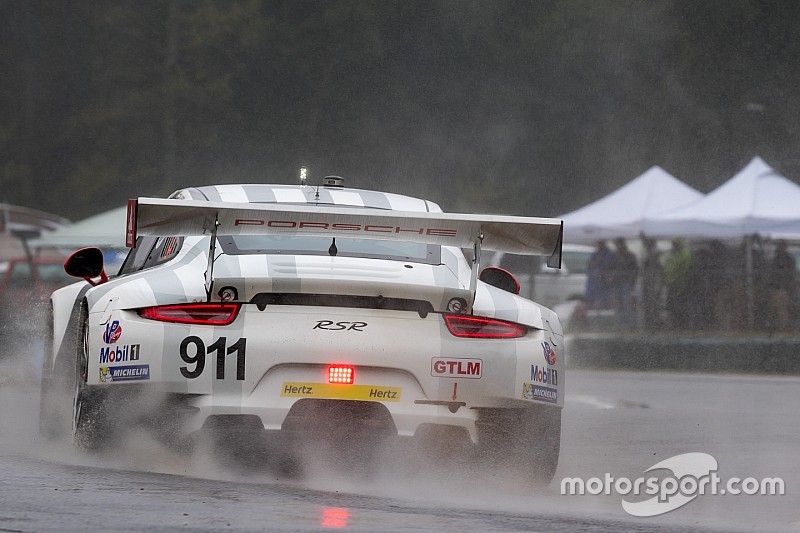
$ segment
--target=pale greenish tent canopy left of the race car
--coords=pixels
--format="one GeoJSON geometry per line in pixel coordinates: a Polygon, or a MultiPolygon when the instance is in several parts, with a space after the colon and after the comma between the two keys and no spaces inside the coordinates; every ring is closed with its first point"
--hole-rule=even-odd
{"type": "Polygon", "coordinates": [[[125,206],[100,213],[30,241],[32,248],[125,247],[125,206]]]}

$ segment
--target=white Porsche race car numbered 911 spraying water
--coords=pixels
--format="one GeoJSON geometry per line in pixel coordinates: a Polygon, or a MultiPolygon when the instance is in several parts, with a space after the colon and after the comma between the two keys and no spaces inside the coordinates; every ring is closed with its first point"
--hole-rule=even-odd
{"type": "Polygon", "coordinates": [[[561,235],[560,220],[447,214],[335,177],[131,200],[119,275],[79,250],[65,267],[86,281],[52,295],[42,430],[71,420],[95,450],[142,424],[165,440],[215,428],[232,448],[242,428],[282,446],[446,435],[549,482],[561,325],[506,271],[478,272],[481,249],[557,266],[561,235]]]}

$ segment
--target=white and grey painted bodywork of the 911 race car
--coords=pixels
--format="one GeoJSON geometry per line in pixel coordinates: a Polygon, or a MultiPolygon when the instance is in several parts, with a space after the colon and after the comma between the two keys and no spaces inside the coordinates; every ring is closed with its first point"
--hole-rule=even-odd
{"type": "MultiPolygon", "coordinates": [[[[129,230],[185,236],[180,251],[163,264],[96,287],[78,283],[56,291],[51,371],[57,358],[72,356],[61,347],[65,338],[76,335],[70,330],[75,327],[71,317],[85,301],[86,385],[156,386],[190,395],[191,405],[198,408],[190,430],[218,414],[256,415],[266,429],[280,429],[299,399],[327,398],[380,402],[400,435],[414,435],[420,424],[430,423],[464,427],[475,439],[476,408],[563,407],[565,344],[557,316],[476,283],[459,248],[483,236],[484,244],[496,249],[531,253],[534,242],[535,253],[551,255],[560,246],[558,221],[449,215],[430,202],[397,195],[266,185],[186,189],[172,200],[140,199],[138,207],[139,219],[131,221],[129,230]],[[281,201],[288,203],[274,203],[281,201]],[[402,212],[386,210],[397,208],[402,212]],[[258,218],[262,215],[273,218],[258,218]],[[304,229],[323,235],[338,224],[337,238],[352,234],[354,217],[362,217],[362,230],[376,229],[378,239],[399,239],[396,228],[419,226],[420,233],[409,231],[405,240],[442,245],[441,260],[427,264],[330,255],[228,255],[216,246],[213,273],[208,274],[208,235],[215,223],[219,239],[235,232],[263,234],[269,220],[295,220],[290,216],[304,217],[297,219],[309,221],[304,229]],[[394,229],[384,231],[389,226],[394,229]],[[426,235],[425,227],[442,231],[426,235]],[[525,232],[527,237],[517,238],[525,232]],[[234,288],[237,301],[243,302],[227,326],[166,323],[137,312],[209,298],[219,301],[218,291],[224,287],[234,288]],[[344,300],[341,306],[250,303],[263,294],[419,300],[429,302],[433,312],[422,316],[409,310],[351,307],[344,300]],[[527,333],[514,339],[455,337],[443,320],[454,298],[466,301],[473,315],[522,324],[527,333]],[[354,367],[354,383],[329,384],[332,364],[354,367]]],[[[296,227],[280,229],[299,233],[296,227]]]]}

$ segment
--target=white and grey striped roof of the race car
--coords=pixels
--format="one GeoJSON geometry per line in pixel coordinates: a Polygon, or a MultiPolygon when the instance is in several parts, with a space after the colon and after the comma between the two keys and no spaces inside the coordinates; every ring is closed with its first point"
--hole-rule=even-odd
{"type": "Polygon", "coordinates": [[[346,187],[237,184],[206,185],[176,191],[171,198],[240,203],[281,203],[300,205],[339,205],[396,211],[441,213],[434,202],[400,194],[346,187]]]}

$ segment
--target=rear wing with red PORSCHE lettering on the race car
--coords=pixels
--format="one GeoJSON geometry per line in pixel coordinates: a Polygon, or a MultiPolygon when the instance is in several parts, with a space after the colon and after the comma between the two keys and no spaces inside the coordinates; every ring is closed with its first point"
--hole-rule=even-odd
{"type": "Polygon", "coordinates": [[[309,235],[402,240],[547,256],[561,268],[563,222],[458,213],[139,198],[128,201],[126,244],[139,235],[309,235]]]}

